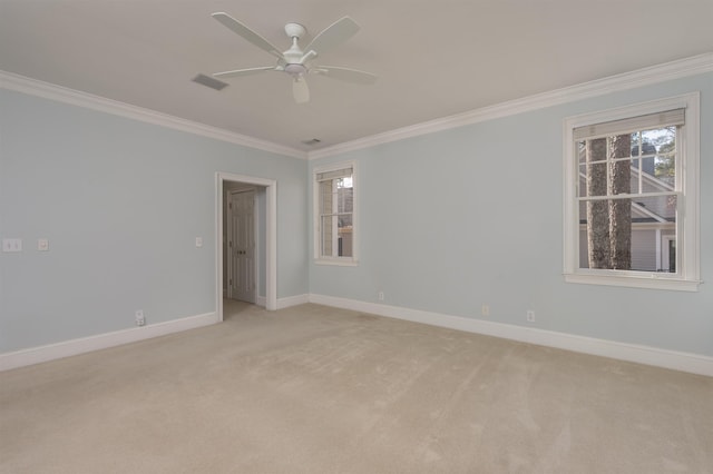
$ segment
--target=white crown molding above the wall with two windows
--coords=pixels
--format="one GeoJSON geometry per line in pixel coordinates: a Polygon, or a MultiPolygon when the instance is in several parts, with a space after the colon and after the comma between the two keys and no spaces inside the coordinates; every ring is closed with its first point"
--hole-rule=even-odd
{"type": "Polygon", "coordinates": [[[707,52],[686,59],[584,82],[577,86],[537,93],[521,99],[509,100],[507,102],[489,107],[482,107],[468,112],[443,117],[356,140],[345,141],[332,147],[310,151],[307,157],[311,160],[326,158],[348,151],[373,147],[375,145],[403,140],[406,138],[433,134],[436,131],[448,130],[451,128],[462,127],[465,125],[472,125],[496,118],[514,116],[546,107],[574,102],[606,93],[634,89],[711,71],[713,71],[713,52],[707,52]]]}

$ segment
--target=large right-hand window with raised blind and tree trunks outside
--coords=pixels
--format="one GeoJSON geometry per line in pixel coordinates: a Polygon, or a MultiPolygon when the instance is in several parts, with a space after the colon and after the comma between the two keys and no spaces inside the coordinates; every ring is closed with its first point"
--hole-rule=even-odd
{"type": "Polygon", "coordinates": [[[565,120],[570,283],[696,290],[699,93],[565,120]]]}

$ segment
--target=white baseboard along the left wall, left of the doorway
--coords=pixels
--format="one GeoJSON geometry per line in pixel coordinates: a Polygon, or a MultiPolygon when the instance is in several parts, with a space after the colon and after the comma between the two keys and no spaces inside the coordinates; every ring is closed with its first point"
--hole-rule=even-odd
{"type": "Polygon", "coordinates": [[[47,346],[31,347],[13,353],[0,354],[0,372],[84,354],[91,350],[105,349],[121,344],[135,343],[137,340],[149,339],[152,337],[165,336],[167,334],[179,333],[182,330],[193,329],[201,326],[208,326],[217,322],[218,319],[215,313],[206,313],[165,323],[131,327],[113,333],[105,333],[96,336],[49,344],[47,346]]]}

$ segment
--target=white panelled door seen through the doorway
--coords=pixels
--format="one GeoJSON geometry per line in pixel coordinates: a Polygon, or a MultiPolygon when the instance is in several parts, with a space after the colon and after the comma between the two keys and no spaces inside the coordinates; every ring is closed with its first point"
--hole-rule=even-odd
{"type": "Polygon", "coordinates": [[[228,298],[255,303],[255,191],[233,191],[227,214],[228,298]]]}

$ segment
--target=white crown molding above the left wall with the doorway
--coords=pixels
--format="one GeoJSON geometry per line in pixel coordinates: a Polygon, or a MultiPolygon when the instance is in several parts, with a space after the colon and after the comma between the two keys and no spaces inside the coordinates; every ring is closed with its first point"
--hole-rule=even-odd
{"type": "Polygon", "coordinates": [[[117,100],[107,99],[91,93],[81,92],[62,86],[31,79],[25,76],[14,75],[0,70],[0,89],[13,90],[30,96],[37,96],[58,102],[69,103],[105,113],[139,120],[143,122],[170,128],[174,130],[185,131],[206,138],[213,138],[221,141],[227,141],[235,145],[242,145],[277,155],[284,155],[292,158],[306,159],[304,151],[295,148],[285,147],[273,144],[272,141],[261,140],[258,138],[248,137],[246,135],[235,134],[222,128],[212,127],[179,117],[169,116],[167,113],[157,112],[155,110],[145,109],[129,103],[119,102],[117,100]]]}

